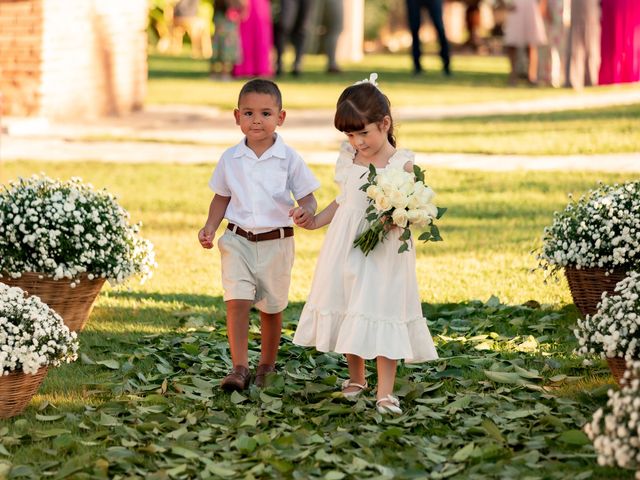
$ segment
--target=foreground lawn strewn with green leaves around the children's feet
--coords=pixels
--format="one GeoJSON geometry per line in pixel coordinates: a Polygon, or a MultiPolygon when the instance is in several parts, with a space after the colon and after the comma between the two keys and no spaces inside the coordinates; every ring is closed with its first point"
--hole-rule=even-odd
{"type": "MultiPolygon", "coordinates": [[[[105,287],[80,334],[81,360],[52,369],[27,411],[0,421],[0,477],[632,478],[598,467],[580,431],[612,378],[603,362],[585,366],[571,353],[577,311],[566,283],[531,273],[531,251],[568,192],[630,178],[434,172],[429,184],[449,208],[444,242],[419,245],[417,268],[441,359],[400,367],[406,413],[387,418],[375,413],[371,392],[355,403],[337,394],[341,356],[291,344],[324,230],[296,232],[279,373],[262,391],[219,390],[230,365],[219,258],[196,239],[211,170],[3,165],[3,183],[43,171],[107,187],[143,222],[159,266],[142,286],[105,287]]],[[[313,170],[326,205],[336,193],[332,168],[313,170]]],[[[258,349],[254,322],[254,362],[258,349]]]]}

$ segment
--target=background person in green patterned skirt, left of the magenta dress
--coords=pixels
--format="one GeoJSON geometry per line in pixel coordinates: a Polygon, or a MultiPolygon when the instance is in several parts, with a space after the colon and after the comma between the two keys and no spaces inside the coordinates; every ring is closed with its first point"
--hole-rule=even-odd
{"type": "Polygon", "coordinates": [[[238,26],[245,9],[246,0],[214,0],[210,70],[212,80],[230,80],[233,66],[242,62],[238,26]]]}

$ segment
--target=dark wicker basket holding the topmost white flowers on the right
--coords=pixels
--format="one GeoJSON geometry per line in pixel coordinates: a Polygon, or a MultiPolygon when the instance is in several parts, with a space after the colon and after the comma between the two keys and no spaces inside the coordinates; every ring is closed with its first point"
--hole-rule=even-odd
{"type": "Polygon", "coordinates": [[[583,316],[593,315],[598,311],[598,303],[602,299],[602,292],[613,292],[616,284],[626,277],[623,270],[614,270],[606,275],[604,268],[566,267],[564,273],[569,282],[569,289],[583,316]]]}

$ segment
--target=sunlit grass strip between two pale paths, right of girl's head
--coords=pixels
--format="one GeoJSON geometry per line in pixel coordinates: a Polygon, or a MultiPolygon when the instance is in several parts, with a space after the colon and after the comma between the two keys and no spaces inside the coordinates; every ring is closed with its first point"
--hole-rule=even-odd
{"type": "Polygon", "coordinates": [[[640,104],[553,113],[486,115],[399,124],[419,152],[592,155],[640,150],[640,104]]]}

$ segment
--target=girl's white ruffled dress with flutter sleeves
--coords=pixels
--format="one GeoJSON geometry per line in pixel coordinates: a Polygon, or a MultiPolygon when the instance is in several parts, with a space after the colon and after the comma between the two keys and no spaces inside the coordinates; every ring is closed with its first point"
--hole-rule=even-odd
{"type": "MultiPolygon", "coordinates": [[[[353,163],[345,143],[336,165],[339,204],[329,225],[293,342],[321,352],[384,356],[408,363],[438,358],[422,315],[416,255],[398,253],[399,231],[389,232],[368,256],[353,241],[367,227],[368,206],[360,187],[368,168],[353,163]]],[[[385,168],[403,168],[413,153],[397,150],[385,168]]]]}

